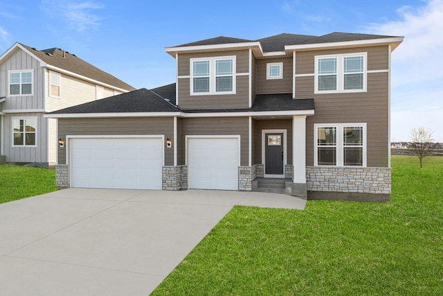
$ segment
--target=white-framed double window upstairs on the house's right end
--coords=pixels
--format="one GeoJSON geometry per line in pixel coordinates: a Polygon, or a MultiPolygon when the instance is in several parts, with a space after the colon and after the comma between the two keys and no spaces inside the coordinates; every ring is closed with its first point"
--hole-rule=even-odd
{"type": "Polygon", "coordinates": [[[366,92],[367,53],[316,55],[315,94],[366,92]]]}

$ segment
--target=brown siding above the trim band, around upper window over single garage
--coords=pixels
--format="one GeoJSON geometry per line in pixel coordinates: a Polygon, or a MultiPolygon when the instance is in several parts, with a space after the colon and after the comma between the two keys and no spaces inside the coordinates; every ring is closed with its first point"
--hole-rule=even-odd
{"type": "Polygon", "coordinates": [[[237,73],[248,73],[249,71],[249,51],[219,51],[213,53],[180,53],[177,65],[178,76],[190,75],[190,59],[192,58],[213,58],[218,56],[236,56],[237,73]]]}

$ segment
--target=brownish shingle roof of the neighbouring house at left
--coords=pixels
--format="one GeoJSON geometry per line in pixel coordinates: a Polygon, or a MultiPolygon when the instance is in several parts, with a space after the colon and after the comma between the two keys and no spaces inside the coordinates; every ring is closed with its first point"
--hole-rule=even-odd
{"type": "Polygon", "coordinates": [[[128,85],[126,82],[123,82],[122,80],[112,76],[111,74],[98,69],[92,64],[85,62],[84,60],[78,58],[76,55],[73,55],[67,51],[62,51],[61,49],[56,48],[44,49],[39,51],[24,44],[20,45],[24,46],[25,49],[28,49],[28,51],[36,55],[39,59],[46,62],[46,64],[50,64],[51,66],[70,71],[80,76],[97,80],[107,85],[118,87],[120,89],[126,89],[128,91],[135,89],[131,85],[128,85]]]}

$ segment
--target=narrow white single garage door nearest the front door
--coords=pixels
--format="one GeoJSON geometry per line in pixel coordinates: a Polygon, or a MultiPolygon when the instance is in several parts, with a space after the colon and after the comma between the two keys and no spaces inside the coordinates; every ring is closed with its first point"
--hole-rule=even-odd
{"type": "Polygon", "coordinates": [[[238,189],[238,138],[188,138],[190,189],[238,189]]]}

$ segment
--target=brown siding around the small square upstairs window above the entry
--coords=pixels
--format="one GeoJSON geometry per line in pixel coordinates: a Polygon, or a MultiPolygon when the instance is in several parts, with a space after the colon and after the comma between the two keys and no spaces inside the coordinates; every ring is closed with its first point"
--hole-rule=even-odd
{"type": "Polygon", "coordinates": [[[292,58],[273,58],[257,60],[256,62],[256,92],[257,94],[288,94],[292,92],[292,58]],[[266,79],[266,64],[283,63],[282,79],[266,79]]]}

